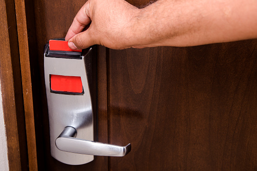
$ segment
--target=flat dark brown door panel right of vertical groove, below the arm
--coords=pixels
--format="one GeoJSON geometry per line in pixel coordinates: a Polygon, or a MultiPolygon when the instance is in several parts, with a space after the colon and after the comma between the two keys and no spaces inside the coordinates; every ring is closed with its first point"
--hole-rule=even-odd
{"type": "Polygon", "coordinates": [[[111,170],[255,170],[257,40],[110,50],[111,170]]]}

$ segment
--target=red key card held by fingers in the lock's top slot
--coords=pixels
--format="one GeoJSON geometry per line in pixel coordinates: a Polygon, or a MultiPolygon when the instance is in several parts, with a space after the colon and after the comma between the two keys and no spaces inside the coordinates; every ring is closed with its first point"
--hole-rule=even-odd
{"type": "Polygon", "coordinates": [[[61,51],[78,51],[82,50],[73,50],[68,46],[68,41],[63,40],[49,40],[49,50],[61,50],[61,51]]]}

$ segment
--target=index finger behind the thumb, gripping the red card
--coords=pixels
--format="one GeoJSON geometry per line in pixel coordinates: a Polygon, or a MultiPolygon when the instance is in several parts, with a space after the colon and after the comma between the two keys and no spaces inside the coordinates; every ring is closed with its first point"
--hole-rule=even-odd
{"type": "Polygon", "coordinates": [[[68,41],[70,38],[80,33],[90,22],[90,16],[88,13],[89,1],[87,1],[75,16],[71,27],[69,28],[65,40],[68,41]]]}

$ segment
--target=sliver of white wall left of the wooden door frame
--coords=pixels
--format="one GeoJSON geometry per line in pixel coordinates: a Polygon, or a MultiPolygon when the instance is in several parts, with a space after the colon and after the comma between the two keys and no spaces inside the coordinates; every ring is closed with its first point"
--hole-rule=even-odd
{"type": "Polygon", "coordinates": [[[0,170],[9,170],[7,159],[6,129],[4,123],[4,112],[2,104],[1,82],[0,82],[0,170]]]}

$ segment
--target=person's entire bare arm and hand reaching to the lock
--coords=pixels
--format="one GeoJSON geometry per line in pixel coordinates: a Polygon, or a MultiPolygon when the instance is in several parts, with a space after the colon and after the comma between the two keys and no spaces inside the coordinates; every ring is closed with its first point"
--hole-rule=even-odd
{"type": "Polygon", "coordinates": [[[72,49],[194,46],[257,38],[257,0],[159,0],[138,9],[89,0],[65,37],[72,49]]]}

